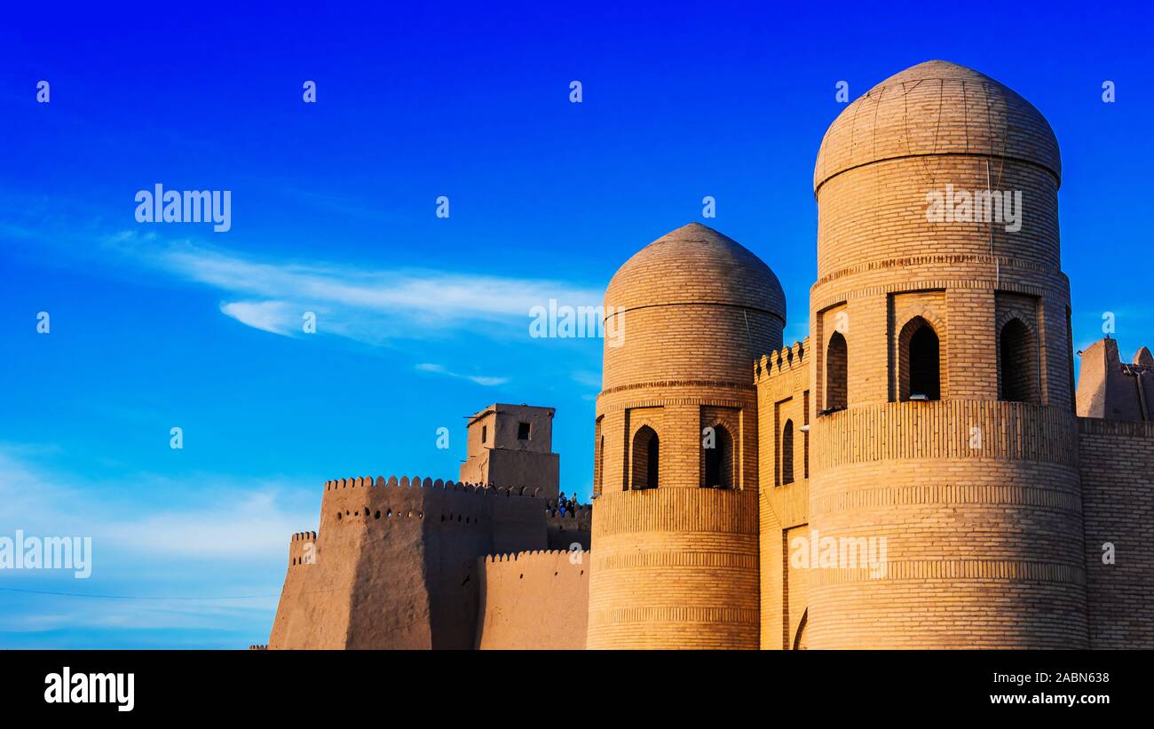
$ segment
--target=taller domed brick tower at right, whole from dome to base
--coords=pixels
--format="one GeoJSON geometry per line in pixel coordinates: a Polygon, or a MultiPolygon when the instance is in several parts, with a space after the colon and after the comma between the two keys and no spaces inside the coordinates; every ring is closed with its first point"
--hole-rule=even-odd
{"type": "Polygon", "coordinates": [[[1037,110],[943,61],[826,131],[809,527],[887,569],[814,570],[809,647],[1087,646],[1059,182],[1037,110]]]}

